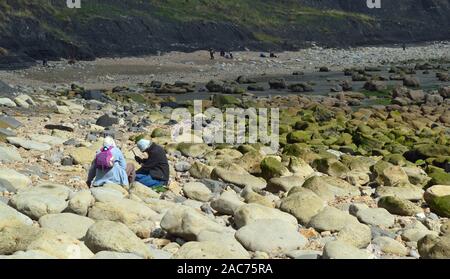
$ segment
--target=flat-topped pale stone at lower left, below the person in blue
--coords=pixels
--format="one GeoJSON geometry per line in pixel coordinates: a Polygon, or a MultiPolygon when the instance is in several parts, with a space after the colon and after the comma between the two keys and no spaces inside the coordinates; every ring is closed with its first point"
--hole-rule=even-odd
{"type": "Polygon", "coordinates": [[[42,228],[68,234],[76,239],[82,239],[94,223],[90,218],[72,213],[48,214],[39,218],[39,225],[42,228]]]}

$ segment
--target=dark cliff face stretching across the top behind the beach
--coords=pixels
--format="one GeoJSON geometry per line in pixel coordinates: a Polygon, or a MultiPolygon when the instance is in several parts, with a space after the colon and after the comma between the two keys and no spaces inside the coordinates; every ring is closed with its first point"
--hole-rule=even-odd
{"type": "MultiPolygon", "coordinates": [[[[305,11],[307,15],[273,26],[245,24],[245,18],[228,19],[222,7],[217,10],[217,19],[214,16],[203,18],[203,14],[175,18],[170,12],[156,13],[158,8],[170,7],[162,6],[165,1],[155,0],[145,4],[135,0],[89,0],[104,6],[103,10],[86,14],[84,10],[69,13],[65,0],[4,1],[7,6],[0,10],[0,48],[6,49],[8,54],[0,52],[2,65],[42,58],[93,59],[209,47],[281,50],[295,49],[311,41],[345,47],[450,38],[450,0],[381,0],[381,9],[369,9],[366,0],[255,0],[256,6],[243,6],[248,9],[244,14],[249,13],[249,18],[254,18],[252,9],[262,9],[263,22],[264,16],[271,15],[271,5],[276,5],[278,14],[289,14],[294,7],[300,11],[298,14],[305,11]],[[286,11],[283,11],[284,4],[286,11]],[[326,11],[332,12],[324,13],[326,11]],[[109,12],[115,16],[105,16],[109,12]]],[[[183,1],[194,0],[171,2],[179,4],[182,10],[183,1]]],[[[224,3],[226,5],[226,1],[224,3]]],[[[82,4],[86,5],[86,1],[82,0],[82,4]]],[[[213,15],[214,9],[212,6],[209,11],[213,15]]],[[[187,16],[193,12],[185,10],[187,16]]],[[[258,15],[261,16],[261,12],[258,15]]],[[[282,19],[283,14],[279,17],[282,19]]]]}

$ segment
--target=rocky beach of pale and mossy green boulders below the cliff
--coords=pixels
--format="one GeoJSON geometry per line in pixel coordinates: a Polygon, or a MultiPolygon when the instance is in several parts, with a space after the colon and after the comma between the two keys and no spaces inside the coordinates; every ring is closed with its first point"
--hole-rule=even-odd
{"type": "Polygon", "coordinates": [[[448,42],[234,57],[0,71],[0,259],[450,258],[448,42]],[[278,150],[176,142],[194,100],[278,108],[278,150]],[[88,188],[104,136],[163,146],[167,189],[88,188]]]}

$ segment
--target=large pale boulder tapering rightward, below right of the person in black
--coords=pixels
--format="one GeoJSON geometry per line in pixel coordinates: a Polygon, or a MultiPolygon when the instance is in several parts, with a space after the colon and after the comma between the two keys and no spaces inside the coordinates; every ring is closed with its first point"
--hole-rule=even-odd
{"type": "Polygon", "coordinates": [[[186,206],[175,206],[169,209],[164,214],[160,225],[168,233],[192,241],[197,240],[198,235],[204,230],[213,232],[230,230],[201,212],[186,206]]]}

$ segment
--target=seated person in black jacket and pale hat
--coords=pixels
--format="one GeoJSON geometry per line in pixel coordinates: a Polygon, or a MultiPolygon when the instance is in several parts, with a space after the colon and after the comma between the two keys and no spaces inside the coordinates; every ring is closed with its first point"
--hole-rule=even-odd
{"type": "Polygon", "coordinates": [[[138,141],[137,147],[142,153],[147,153],[147,158],[135,156],[141,165],[136,171],[136,181],[147,187],[166,186],[169,183],[169,162],[164,148],[145,139],[138,141]]]}

